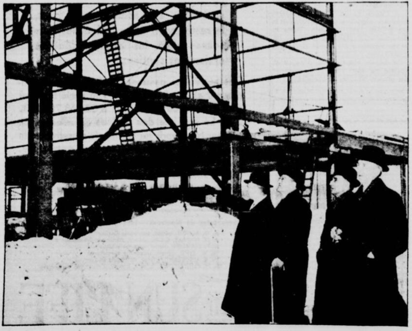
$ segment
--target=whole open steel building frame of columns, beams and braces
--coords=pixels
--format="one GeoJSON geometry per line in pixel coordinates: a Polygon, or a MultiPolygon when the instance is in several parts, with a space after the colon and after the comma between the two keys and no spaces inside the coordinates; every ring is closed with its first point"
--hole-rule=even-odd
{"type": "MultiPolygon", "coordinates": [[[[287,42],[278,42],[267,36],[263,36],[251,30],[245,29],[237,25],[237,10],[249,6],[258,6],[257,4],[224,4],[222,5],[221,11],[214,11],[209,13],[200,12],[188,8],[184,4],[162,4],[164,6],[162,9],[152,9],[150,4],[118,4],[107,6],[102,10],[92,10],[88,13],[82,13],[82,5],[63,5],[58,6],[54,9],[51,8],[50,4],[45,5],[18,5],[18,4],[8,4],[4,5],[4,12],[7,13],[12,11],[13,23],[10,26],[5,27],[5,35],[12,34],[12,38],[6,42],[6,52],[7,50],[13,49],[24,43],[29,43],[30,45],[30,62],[27,64],[18,64],[7,61],[5,64],[5,73],[7,79],[16,79],[27,82],[29,85],[29,118],[26,120],[11,121],[7,125],[11,125],[17,122],[28,121],[29,128],[29,199],[28,199],[28,209],[29,217],[32,218],[30,221],[33,225],[32,234],[50,236],[50,222],[51,222],[51,187],[52,182],[50,178],[53,178],[51,172],[55,164],[52,164],[53,157],[53,139],[50,136],[52,132],[52,122],[53,116],[59,116],[62,114],[67,114],[69,112],[76,112],[77,114],[77,134],[74,138],[69,138],[77,141],[77,182],[79,186],[83,186],[86,181],[84,173],[82,172],[84,160],[90,155],[96,155],[97,151],[104,151],[101,145],[112,135],[118,134],[118,130],[128,121],[132,119],[133,116],[138,116],[138,113],[151,113],[162,116],[169,127],[176,133],[179,145],[179,158],[180,166],[177,167],[178,175],[181,176],[181,188],[182,195],[184,197],[185,189],[188,186],[187,178],[193,173],[191,169],[187,166],[188,157],[188,142],[187,142],[187,112],[195,111],[205,114],[216,115],[221,118],[221,128],[222,128],[222,145],[228,155],[228,162],[224,162],[221,171],[213,170],[207,171],[203,169],[205,174],[212,174],[219,182],[226,182],[231,179],[231,191],[234,194],[240,194],[240,172],[245,169],[242,166],[242,146],[246,141],[252,139],[262,139],[259,137],[249,137],[237,134],[239,130],[239,120],[253,121],[257,123],[265,123],[274,126],[282,126],[287,129],[299,130],[304,133],[316,134],[326,137],[330,144],[334,144],[337,150],[343,149],[359,149],[366,144],[374,144],[382,147],[386,154],[389,156],[393,164],[405,164],[407,162],[407,145],[400,142],[393,142],[389,140],[379,140],[371,139],[367,137],[356,136],[341,130],[337,130],[336,126],[336,109],[339,108],[336,104],[336,68],[338,64],[335,62],[334,54],[334,35],[338,31],[333,25],[333,4],[327,4],[326,13],[315,10],[311,6],[304,4],[291,4],[291,3],[279,3],[276,4],[296,15],[299,15],[305,19],[308,19],[316,24],[322,26],[326,29],[325,34],[311,36],[301,39],[293,39],[287,42]],[[41,9],[41,14],[36,17],[35,8],[41,9]],[[178,14],[169,15],[168,12],[175,10],[177,8],[178,14]],[[55,19],[54,25],[51,25],[52,17],[51,13],[56,13],[59,11],[65,11],[67,9],[66,17],[61,19],[55,19]],[[138,11],[141,15],[140,19],[134,22],[134,13],[138,11]],[[88,25],[98,21],[108,20],[108,18],[115,18],[117,15],[132,12],[133,19],[131,25],[116,34],[105,34],[103,29],[94,29],[88,25]],[[187,14],[190,14],[188,17],[187,14]],[[167,19],[159,20],[159,17],[168,16],[167,19]],[[171,18],[169,18],[171,16],[171,18]],[[219,18],[220,16],[221,18],[219,18]],[[223,48],[222,54],[217,55],[216,49],[213,57],[189,60],[187,54],[187,42],[186,42],[186,25],[188,22],[197,19],[207,19],[214,24],[214,34],[216,35],[216,25],[220,25],[222,30],[222,44],[227,47],[223,48]],[[57,22],[57,23],[56,23],[57,22]],[[25,34],[25,27],[30,23],[30,33],[25,34]],[[35,33],[35,27],[39,26],[41,31],[41,40],[38,40],[35,33]],[[179,44],[177,44],[172,35],[166,31],[166,27],[175,26],[179,31],[179,44]],[[57,35],[61,32],[67,31],[69,29],[76,29],[76,43],[77,46],[73,50],[61,52],[52,55],[50,50],[50,39],[51,36],[57,35]],[[91,38],[84,40],[82,31],[92,31],[93,35],[100,35],[99,39],[89,41],[91,38]],[[164,37],[165,45],[158,46],[152,45],[150,43],[143,43],[136,41],[135,36],[142,35],[148,32],[158,31],[164,37]],[[243,32],[254,38],[265,40],[270,44],[262,47],[255,47],[246,50],[239,50],[237,47],[238,33],[243,32]],[[302,41],[307,41],[311,39],[326,37],[327,39],[327,58],[323,59],[313,54],[299,50],[291,45],[298,44],[302,41]],[[113,79],[106,78],[105,80],[98,80],[90,77],[85,77],[83,75],[83,60],[94,51],[103,48],[107,43],[114,40],[125,40],[130,43],[138,43],[150,47],[152,49],[160,50],[165,53],[173,53],[178,55],[179,63],[164,67],[153,68],[151,65],[147,70],[140,70],[134,73],[128,73],[122,75],[122,78],[133,77],[140,74],[147,75],[148,73],[154,71],[167,70],[170,68],[179,68],[179,78],[171,83],[159,87],[156,90],[147,90],[137,87],[132,87],[123,84],[117,84],[113,79]],[[171,49],[170,49],[171,47],[171,49]],[[314,68],[310,70],[301,70],[295,72],[289,72],[279,75],[272,75],[268,77],[261,77],[252,80],[240,80],[238,81],[238,56],[240,54],[259,51],[263,49],[269,49],[273,47],[281,47],[294,52],[298,52],[304,56],[315,58],[319,61],[324,62],[326,65],[324,67],[314,68]],[[54,58],[72,54],[73,57],[66,61],[60,66],[52,65],[51,61],[54,58]],[[195,64],[201,62],[212,61],[216,59],[222,60],[222,70],[223,70],[223,81],[220,85],[211,85],[207,80],[203,78],[201,73],[195,68],[195,64]],[[76,63],[76,71],[73,74],[63,72],[62,70],[69,67],[71,64],[76,63]],[[196,78],[201,82],[201,88],[188,88],[187,87],[187,72],[193,73],[196,78]],[[312,112],[327,109],[329,111],[329,121],[326,126],[315,125],[311,123],[304,123],[289,117],[284,117],[282,114],[265,114],[253,110],[244,109],[238,106],[238,86],[244,86],[246,84],[253,84],[256,82],[275,80],[279,78],[290,78],[294,75],[303,75],[307,72],[313,72],[318,70],[327,71],[328,76],[328,106],[319,107],[315,109],[303,109],[299,112],[312,112]],[[173,84],[179,83],[179,91],[176,93],[164,93],[160,90],[165,87],[171,86],[173,84]],[[36,89],[36,86],[40,86],[41,89],[36,89]],[[77,95],[77,108],[70,111],[60,112],[53,114],[52,111],[52,87],[59,87],[61,89],[72,89],[76,90],[77,95]],[[215,91],[216,88],[222,89],[221,98],[215,91]],[[215,99],[215,102],[209,102],[208,100],[193,99],[188,97],[190,92],[199,91],[201,89],[207,90],[210,95],[215,99]],[[107,107],[110,106],[109,100],[104,101],[103,105],[84,107],[83,100],[86,98],[83,96],[85,92],[91,92],[99,95],[106,95],[113,98],[120,99],[125,104],[130,104],[136,102],[134,109],[130,110],[129,113],[125,113],[123,116],[118,117],[112,124],[110,129],[103,135],[93,135],[84,136],[84,124],[83,124],[83,113],[84,111],[96,109],[97,107],[107,107]],[[39,108],[39,100],[43,107],[39,108]],[[164,107],[171,107],[179,109],[180,123],[176,124],[165,112],[164,107]],[[43,119],[43,120],[41,120],[43,119]],[[42,122],[43,121],[43,122],[42,122]],[[228,129],[235,129],[232,132],[228,129]],[[40,132],[40,134],[39,134],[40,132]],[[44,135],[42,133],[44,132],[44,135]],[[229,134],[228,134],[229,132],[229,134]],[[36,136],[38,135],[38,136],[36,136]],[[85,149],[84,139],[98,138],[90,148],[85,149]],[[48,146],[48,149],[44,149],[44,146],[48,146]],[[40,161],[39,161],[40,160],[40,161]],[[40,162],[40,163],[39,163],[40,162]],[[220,180],[217,176],[223,176],[223,180],[220,180]],[[32,178],[32,180],[30,180],[32,178]],[[40,193],[39,193],[40,192],[40,193]],[[35,207],[39,204],[39,194],[42,196],[42,208],[35,207]]],[[[98,5],[96,5],[98,7],[98,5]]],[[[97,8],[96,7],[96,8],[97,8]]],[[[158,7],[158,6],[157,6],[158,7]]],[[[92,36],[93,36],[92,35],[92,36]]],[[[216,37],[215,37],[216,38],[216,37]]],[[[214,41],[216,48],[216,40],[214,41]]],[[[159,54],[159,56],[160,56],[159,54]]],[[[88,59],[88,58],[87,58],[88,59]]],[[[158,59],[158,57],[156,58],[158,59]]],[[[90,59],[88,59],[90,61],[90,59]]],[[[156,62],[155,60],[153,64],[156,62]]],[[[93,64],[95,67],[96,65],[93,64]]],[[[96,67],[97,68],[97,67],[96,67]]],[[[103,75],[103,74],[102,74],[103,75]]],[[[145,77],[144,77],[145,78],[145,77]]],[[[144,79],[143,78],[143,79],[144,79]]],[[[140,84],[139,84],[140,85],[140,84]]],[[[11,103],[17,100],[22,100],[23,98],[10,100],[7,103],[11,103]]],[[[216,123],[216,121],[210,121],[201,124],[216,123]]],[[[161,128],[150,128],[147,126],[147,130],[154,133],[156,130],[165,129],[167,127],[161,128]]],[[[134,132],[142,132],[142,130],[135,130],[134,132]]],[[[275,147],[279,146],[290,146],[290,144],[295,144],[290,141],[290,137],[265,137],[266,141],[273,142],[275,147]],[[289,139],[288,139],[289,138],[289,139]]],[[[69,140],[65,139],[65,141],[69,140]]],[[[266,143],[267,144],[267,143],[266,143]]],[[[265,145],[266,146],[266,145],[265,145]]],[[[312,153],[317,153],[316,151],[321,151],[322,155],[328,155],[328,146],[309,146],[309,144],[304,144],[309,148],[312,153]]],[[[16,148],[20,146],[11,146],[9,148],[16,148]]],[[[265,147],[266,148],[266,147],[265,147]]],[[[119,151],[122,149],[119,146],[119,151]]],[[[126,149],[125,149],[126,150],[126,149]]],[[[266,149],[265,149],[266,151],[266,149]]],[[[267,153],[267,152],[265,152],[267,153]]],[[[69,153],[68,153],[69,154],[69,153]]],[[[247,161],[247,169],[253,167],[264,167],[273,168],[273,162],[264,162],[260,164],[254,164],[253,162],[247,161]]],[[[245,164],[245,163],[244,163],[245,164]]],[[[323,170],[327,170],[323,166],[323,170]]],[[[56,170],[56,169],[55,169],[56,170]]],[[[196,170],[198,172],[198,170],[196,170]]],[[[201,171],[200,171],[201,172],[201,171]]],[[[7,175],[7,174],[6,174],[7,175]]],[[[154,174],[156,177],[156,175],[154,174]]],[[[402,189],[406,190],[405,181],[402,181],[402,189]]]]}

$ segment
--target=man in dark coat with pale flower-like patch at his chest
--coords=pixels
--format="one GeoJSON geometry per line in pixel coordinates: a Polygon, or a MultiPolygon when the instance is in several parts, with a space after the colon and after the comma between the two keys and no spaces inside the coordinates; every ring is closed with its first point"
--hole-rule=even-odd
{"type": "Polygon", "coordinates": [[[349,164],[335,164],[330,189],[335,200],[326,211],[326,220],[317,252],[313,324],[357,324],[362,307],[357,296],[361,241],[357,235],[358,199],[352,189],[360,185],[349,164]]]}

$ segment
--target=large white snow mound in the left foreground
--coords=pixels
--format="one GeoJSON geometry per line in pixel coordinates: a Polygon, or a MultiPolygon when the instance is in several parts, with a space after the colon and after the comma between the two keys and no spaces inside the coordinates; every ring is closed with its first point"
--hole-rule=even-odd
{"type": "Polygon", "coordinates": [[[221,303],[238,220],[186,206],[7,243],[4,323],[233,322],[221,303]]]}

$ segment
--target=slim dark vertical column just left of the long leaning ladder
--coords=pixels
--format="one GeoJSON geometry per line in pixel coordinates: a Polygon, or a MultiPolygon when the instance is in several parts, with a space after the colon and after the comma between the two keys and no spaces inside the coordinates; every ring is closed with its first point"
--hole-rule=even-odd
{"type": "MultiPolygon", "coordinates": [[[[83,76],[83,52],[82,52],[82,5],[73,6],[73,12],[76,18],[76,77],[80,81],[83,76]]],[[[84,138],[84,124],[83,124],[83,91],[81,84],[76,90],[76,106],[77,106],[77,169],[78,180],[77,188],[83,188],[83,138],[84,138]]]]}

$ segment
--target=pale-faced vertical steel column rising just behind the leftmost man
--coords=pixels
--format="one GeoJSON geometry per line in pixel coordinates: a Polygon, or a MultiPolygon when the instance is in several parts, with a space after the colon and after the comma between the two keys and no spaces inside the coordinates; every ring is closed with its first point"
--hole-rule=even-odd
{"type": "MultiPolygon", "coordinates": [[[[236,4],[222,4],[222,20],[237,23],[236,4]]],[[[238,31],[235,27],[222,26],[222,99],[229,101],[233,107],[238,107],[238,31]]],[[[238,120],[222,118],[221,135],[232,127],[239,130],[238,120]]],[[[230,175],[230,193],[241,196],[240,182],[240,143],[232,141],[229,144],[230,172],[223,171],[223,182],[228,181],[230,175]]],[[[227,164],[225,164],[225,167],[227,164]]]]}

